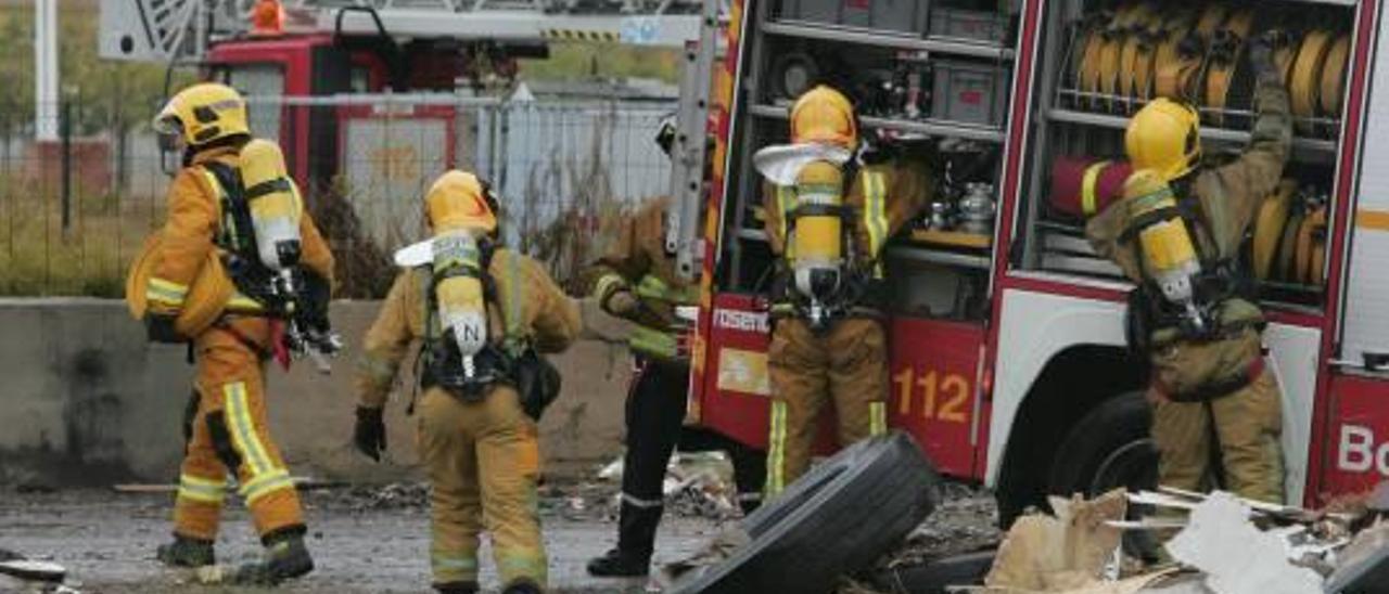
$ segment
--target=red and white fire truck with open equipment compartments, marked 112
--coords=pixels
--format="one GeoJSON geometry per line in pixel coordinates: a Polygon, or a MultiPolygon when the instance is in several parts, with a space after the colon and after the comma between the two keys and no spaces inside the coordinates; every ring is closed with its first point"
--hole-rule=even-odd
{"type": "Polygon", "coordinates": [[[936,203],[886,251],[889,423],[942,473],[992,487],[1004,522],[1049,493],[1151,487],[1146,365],[1124,337],[1131,285],[1085,240],[1081,187],[1113,194],[1128,115],[1174,85],[1200,105],[1206,157],[1238,153],[1251,126],[1247,40],[1278,28],[1296,133],[1245,257],[1271,322],[1286,495],[1318,505],[1389,477],[1382,8],[735,0],[696,253],[697,416],[765,444],[772,257],[751,157],[788,140],[790,100],[822,82],[856,101],[870,143],[938,151],[936,203]]]}

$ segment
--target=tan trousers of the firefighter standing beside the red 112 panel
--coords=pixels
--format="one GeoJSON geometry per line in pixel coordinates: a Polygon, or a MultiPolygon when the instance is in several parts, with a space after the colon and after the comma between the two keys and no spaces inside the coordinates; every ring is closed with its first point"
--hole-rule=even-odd
{"type": "Polygon", "coordinates": [[[806,321],[776,321],[767,351],[772,384],[767,497],[810,468],[826,402],[839,419],[839,444],[886,432],[888,341],[876,319],[849,318],[817,334],[806,321]]]}

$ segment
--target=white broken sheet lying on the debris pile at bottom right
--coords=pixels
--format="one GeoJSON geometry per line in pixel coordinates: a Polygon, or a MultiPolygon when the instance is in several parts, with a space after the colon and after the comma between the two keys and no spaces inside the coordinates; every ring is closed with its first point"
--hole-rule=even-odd
{"type": "Polygon", "coordinates": [[[1289,545],[1250,520],[1253,511],[1229,493],[1214,493],[1192,509],[1186,529],[1167,543],[1176,561],[1206,573],[1217,594],[1318,593],[1321,576],[1288,561],[1289,545]]]}

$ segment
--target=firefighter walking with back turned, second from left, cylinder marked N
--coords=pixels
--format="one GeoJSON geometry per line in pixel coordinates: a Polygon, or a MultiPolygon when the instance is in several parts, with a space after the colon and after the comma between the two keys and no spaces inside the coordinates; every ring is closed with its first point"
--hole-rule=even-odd
{"type": "Polygon", "coordinates": [[[461,171],[429,189],[433,237],[396,254],[408,269],[367,330],[357,373],[354,441],[379,459],[382,407],[419,343],[417,443],[433,486],[429,566],[446,594],[478,591],[482,530],[506,593],[544,587],[536,419],[557,396],[558,375],[538,353],[563,351],[579,332],[578,307],[544,268],[492,243],[496,203],[488,196],[461,171]]]}

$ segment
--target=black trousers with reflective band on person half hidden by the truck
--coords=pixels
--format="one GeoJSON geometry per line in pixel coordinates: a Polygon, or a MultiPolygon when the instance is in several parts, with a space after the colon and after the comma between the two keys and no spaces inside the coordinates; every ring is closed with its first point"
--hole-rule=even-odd
{"type": "Polygon", "coordinates": [[[733,462],[733,480],[745,511],[756,508],[765,457],[724,436],[682,429],[689,366],[639,361],[626,398],[626,454],[622,457],[622,508],[618,551],[650,559],[664,511],[665,468],[676,444],[683,451],[724,450],[733,462]]]}

